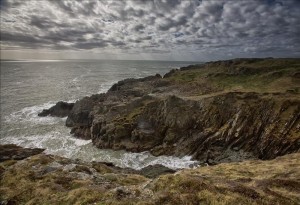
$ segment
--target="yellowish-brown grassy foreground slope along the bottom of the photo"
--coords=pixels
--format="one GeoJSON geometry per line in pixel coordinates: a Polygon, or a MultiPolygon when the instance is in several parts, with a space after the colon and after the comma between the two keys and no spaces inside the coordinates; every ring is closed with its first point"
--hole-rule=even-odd
{"type": "Polygon", "coordinates": [[[0,200],[2,204],[296,205],[299,167],[300,154],[295,153],[148,178],[106,163],[42,153],[0,163],[0,200]]]}

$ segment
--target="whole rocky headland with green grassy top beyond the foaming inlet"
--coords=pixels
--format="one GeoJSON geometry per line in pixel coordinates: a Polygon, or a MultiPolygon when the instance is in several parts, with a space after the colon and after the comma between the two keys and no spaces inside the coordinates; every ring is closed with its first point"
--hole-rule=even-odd
{"type": "Polygon", "coordinates": [[[237,59],[127,79],[77,101],[72,133],[99,148],[207,163],[300,150],[300,60],[237,59]]]}

